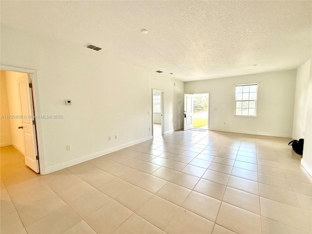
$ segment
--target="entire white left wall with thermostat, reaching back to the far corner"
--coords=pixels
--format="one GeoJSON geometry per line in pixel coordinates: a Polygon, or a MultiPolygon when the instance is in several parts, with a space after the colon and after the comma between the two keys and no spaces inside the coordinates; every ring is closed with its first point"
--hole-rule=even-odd
{"type": "Polygon", "coordinates": [[[165,90],[167,130],[180,126],[183,82],[83,45],[62,44],[1,26],[1,64],[36,70],[34,89],[41,173],[53,172],[152,138],[152,88],[165,90]],[[178,83],[174,87],[174,82],[178,83]],[[159,83],[159,85],[158,85],[159,83]],[[72,105],[66,106],[65,99],[72,105]],[[118,139],[108,140],[108,136],[118,139]],[[72,150],[67,151],[66,145],[72,150]]]}

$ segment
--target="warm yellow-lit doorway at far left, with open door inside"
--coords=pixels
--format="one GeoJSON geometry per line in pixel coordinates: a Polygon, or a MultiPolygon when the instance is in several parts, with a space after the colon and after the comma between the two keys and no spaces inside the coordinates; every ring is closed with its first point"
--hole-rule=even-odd
{"type": "Polygon", "coordinates": [[[39,176],[40,168],[32,74],[2,67],[1,184],[9,186],[39,176]]]}

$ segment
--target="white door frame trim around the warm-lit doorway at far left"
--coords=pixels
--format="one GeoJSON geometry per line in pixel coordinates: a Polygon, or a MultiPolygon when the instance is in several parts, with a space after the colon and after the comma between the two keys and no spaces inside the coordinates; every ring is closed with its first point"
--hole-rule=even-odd
{"type": "MultiPolygon", "coordinates": [[[[31,90],[33,94],[34,113],[36,116],[40,116],[39,96],[38,96],[39,88],[37,85],[37,71],[26,69],[26,68],[7,66],[7,65],[2,65],[2,64],[0,64],[0,70],[11,71],[11,72],[21,72],[21,73],[26,73],[30,75],[30,78],[33,84],[33,88],[31,90]]],[[[42,140],[42,125],[41,125],[40,118],[36,118],[36,137],[37,137],[40,174],[45,175],[46,167],[45,167],[45,158],[43,154],[44,150],[43,150],[43,140],[42,140]]]]}

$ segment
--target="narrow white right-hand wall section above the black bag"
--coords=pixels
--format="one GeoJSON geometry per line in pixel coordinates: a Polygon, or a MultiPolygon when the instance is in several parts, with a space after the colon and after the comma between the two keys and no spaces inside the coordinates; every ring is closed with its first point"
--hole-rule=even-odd
{"type": "Polygon", "coordinates": [[[292,138],[304,138],[306,114],[308,107],[308,86],[310,79],[311,59],[306,61],[297,69],[296,91],[294,98],[294,113],[292,138]]]}

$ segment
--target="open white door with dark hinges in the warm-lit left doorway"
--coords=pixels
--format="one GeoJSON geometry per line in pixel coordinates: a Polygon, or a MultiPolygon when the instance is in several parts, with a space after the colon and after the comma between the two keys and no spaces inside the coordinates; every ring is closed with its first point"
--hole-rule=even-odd
{"type": "Polygon", "coordinates": [[[25,141],[25,164],[39,173],[39,158],[36,137],[36,125],[33,122],[34,105],[33,93],[31,90],[31,78],[24,75],[18,79],[20,93],[20,108],[22,113],[22,126],[19,127],[23,131],[25,141]]]}

